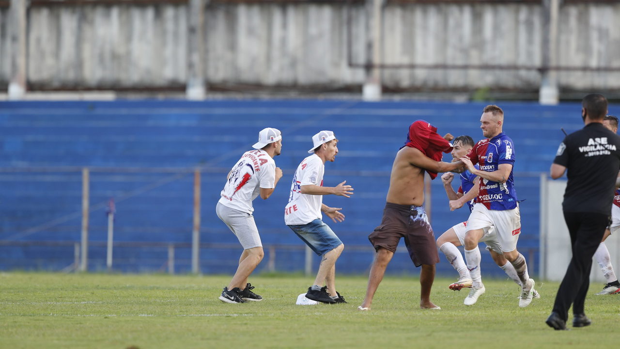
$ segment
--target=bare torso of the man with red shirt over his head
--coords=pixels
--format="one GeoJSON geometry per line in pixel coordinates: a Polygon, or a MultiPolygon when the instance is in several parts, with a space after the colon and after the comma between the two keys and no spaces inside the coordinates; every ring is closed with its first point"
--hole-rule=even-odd
{"type": "Polygon", "coordinates": [[[425,170],[410,162],[411,151],[412,148],[404,147],[396,153],[387,189],[387,202],[407,206],[422,206],[424,203],[425,170]]]}

